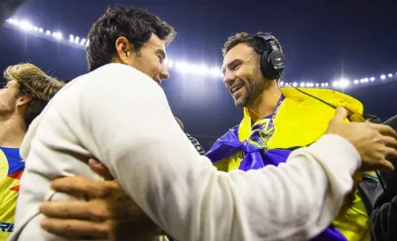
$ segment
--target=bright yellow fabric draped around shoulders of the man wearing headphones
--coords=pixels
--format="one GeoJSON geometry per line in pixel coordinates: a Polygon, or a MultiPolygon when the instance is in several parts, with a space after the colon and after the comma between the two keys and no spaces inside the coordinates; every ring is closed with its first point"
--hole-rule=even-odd
{"type": "MultiPolygon", "coordinates": [[[[343,106],[354,115],[355,121],[364,121],[362,118],[363,105],[354,97],[331,89],[301,89],[314,97],[308,97],[293,88],[281,90],[285,99],[274,120],[275,133],[267,141],[269,149],[307,146],[323,136],[328,122],[335,114],[335,109],[314,97],[323,99],[335,107],[343,106]]],[[[251,134],[251,128],[260,121],[252,125],[249,112],[244,108],[244,118],[238,128],[239,141],[245,141],[251,134]]],[[[229,159],[217,161],[214,165],[222,167],[220,168],[222,171],[236,170],[242,159],[240,152],[237,155],[240,157],[235,155],[229,159]]]]}

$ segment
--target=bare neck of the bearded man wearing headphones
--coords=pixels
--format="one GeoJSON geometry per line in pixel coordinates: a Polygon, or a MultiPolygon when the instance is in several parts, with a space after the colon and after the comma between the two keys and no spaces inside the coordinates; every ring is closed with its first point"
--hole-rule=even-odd
{"type": "Polygon", "coordinates": [[[254,123],[272,114],[275,111],[278,100],[281,97],[281,89],[276,84],[271,84],[261,92],[253,105],[247,106],[251,121],[254,123]]]}

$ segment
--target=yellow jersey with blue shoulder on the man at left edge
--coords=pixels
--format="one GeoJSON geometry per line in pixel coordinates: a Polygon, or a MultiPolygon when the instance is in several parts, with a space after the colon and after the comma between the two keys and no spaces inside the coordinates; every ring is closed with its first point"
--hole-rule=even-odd
{"type": "Polygon", "coordinates": [[[19,179],[24,169],[19,148],[0,147],[0,241],[7,240],[14,226],[19,179]]]}

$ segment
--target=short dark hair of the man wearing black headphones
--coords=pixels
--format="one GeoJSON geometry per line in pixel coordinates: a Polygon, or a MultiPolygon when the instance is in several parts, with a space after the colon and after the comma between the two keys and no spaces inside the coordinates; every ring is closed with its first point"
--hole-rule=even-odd
{"type": "MultiPolygon", "coordinates": [[[[260,33],[259,35],[270,35],[268,33],[260,33]]],[[[279,51],[283,52],[280,43],[278,42],[278,40],[276,39],[275,36],[273,36],[276,40],[276,45],[279,51]]],[[[268,49],[268,44],[265,43],[264,39],[262,39],[261,37],[258,36],[254,36],[254,35],[249,35],[245,32],[243,33],[238,33],[236,35],[232,35],[228,38],[228,40],[226,41],[225,44],[223,44],[223,49],[222,49],[222,54],[223,57],[234,47],[237,46],[237,44],[239,43],[245,43],[248,46],[250,46],[251,48],[253,48],[253,50],[258,53],[259,55],[261,55],[264,51],[266,51],[268,49]]]]}

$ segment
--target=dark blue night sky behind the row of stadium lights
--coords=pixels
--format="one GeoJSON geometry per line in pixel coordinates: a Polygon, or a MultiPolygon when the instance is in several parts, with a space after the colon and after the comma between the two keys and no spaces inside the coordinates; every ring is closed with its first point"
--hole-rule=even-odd
{"type": "MultiPolygon", "coordinates": [[[[354,80],[397,72],[397,1],[391,0],[34,0],[14,16],[59,29],[66,37],[84,36],[114,4],[145,8],[174,26],[178,36],[167,49],[173,59],[221,66],[221,48],[228,36],[262,31],[272,32],[281,42],[287,59],[284,77],[290,81],[330,82],[342,74],[354,80]]],[[[2,27],[1,68],[22,61],[66,81],[87,72],[84,51],[2,27]]],[[[233,105],[222,79],[170,74],[163,87],[188,132],[221,136],[238,124],[242,112],[233,105]]],[[[386,119],[397,113],[396,87],[397,82],[390,81],[346,92],[362,100],[366,112],[386,119]]]]}

